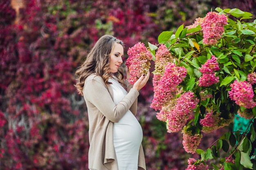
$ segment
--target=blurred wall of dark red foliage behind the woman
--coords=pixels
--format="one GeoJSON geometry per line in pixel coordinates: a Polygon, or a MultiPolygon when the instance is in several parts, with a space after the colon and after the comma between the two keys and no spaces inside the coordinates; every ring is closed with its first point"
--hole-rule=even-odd
{"type": "MultiPolygon", "coordinates": [[[[16,11],[11,1],[0,2],[3,170],[87,169],[88,117],[85,102],[74,88],[74,72],[98,38],[112,34],[124,40],[127,49],[139,41],[155,43],[161,31],[181,23],[189,25],[209,11],[207,7],[219,5],[179,0],[23,3],[19,20],[14,22],[16,11]]],[[[149,82],[140,92],[137,115],[144,130],[148,169],[184,169],[191,155],[184,153],[181,136],[166,135],[165,125],[155,118],[149,107],[152,93],[149,82]]],[[[207,144],[208,139],[214,137],[207,138],[207,144]]]]}

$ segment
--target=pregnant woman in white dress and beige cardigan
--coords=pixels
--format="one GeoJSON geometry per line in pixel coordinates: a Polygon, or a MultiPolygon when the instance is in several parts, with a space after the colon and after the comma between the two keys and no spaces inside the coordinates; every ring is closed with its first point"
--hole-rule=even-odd
{"type": "MultiPolygon", "coordinates": [[[[120,67],[123,56],[123,42],[105,35],[76,71],[75,86],[88,108],[90,170],[146,170],[142,130],[135,114],[138,91],[149,72],[133,86],[128,81],[126,85],[120,67]]],[[[128,69],[126,74],[129,78],[128,69]]]]}

